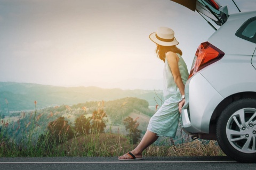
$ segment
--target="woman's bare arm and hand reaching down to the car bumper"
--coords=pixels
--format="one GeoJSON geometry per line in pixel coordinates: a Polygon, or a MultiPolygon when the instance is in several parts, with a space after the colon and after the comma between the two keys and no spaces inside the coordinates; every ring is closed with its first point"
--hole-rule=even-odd
{"type": "MultiPolygon", "coordinates": [[[[181,79],[181,75],[180,75],[180,70],[179,70],[179,66],[178,66],[178,62],[179,62],[179,57],[177,54],[173,53],[173,52],[167,52],[166,53],[166,58],[168,61],[168,64],[171,68],[171,72],[174,78],[175,83],[177,84],[181,95],[185,94],[185,85],[182,82],[181,79]]],[[[179,112],[181,113],[181,108],[185,103],[185,99],[183,99],[180,103],[179,103],[179,112]]]]}

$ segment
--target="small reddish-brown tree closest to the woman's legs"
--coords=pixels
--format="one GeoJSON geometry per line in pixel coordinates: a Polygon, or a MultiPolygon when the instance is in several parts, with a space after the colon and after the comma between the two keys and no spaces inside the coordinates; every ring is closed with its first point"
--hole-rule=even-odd
{"type": "Polygon", "coordinates": [[[125,118],[124,125],[125,125],[125,130],[129,132],[127,136],[129,137],[130,143],[135,144],[139,141],[141,138],[141,130],[138,129],[138,126],[140,125],[137,123],[139,117],[135,118],[133,120],[132,117],[128,116],[125,118]]]}

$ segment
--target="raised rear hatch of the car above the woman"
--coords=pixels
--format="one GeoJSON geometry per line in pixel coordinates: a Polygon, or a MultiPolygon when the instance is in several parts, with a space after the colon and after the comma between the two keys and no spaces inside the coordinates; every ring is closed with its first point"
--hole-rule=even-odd
{"type": "MultiPolygon", "coordinates": [[[[221,26],[228,20],[228,6],[222,6],[217,0],[170,0],[192,11],[197,11],[221,26]]],[[[202,15],[202,16],[203,16],[202,15]]],[[[210,23],[209,23],[210,24],[210,23]]]]}

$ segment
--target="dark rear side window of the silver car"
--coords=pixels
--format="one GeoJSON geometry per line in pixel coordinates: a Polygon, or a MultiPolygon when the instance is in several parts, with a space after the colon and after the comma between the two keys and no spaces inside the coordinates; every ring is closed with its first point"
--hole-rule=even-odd
{"type": "Polygon", "coordinates": [[[242,27],[237,30],[236,36],[256,43],[256,17],[247,20],[242,27]]]}

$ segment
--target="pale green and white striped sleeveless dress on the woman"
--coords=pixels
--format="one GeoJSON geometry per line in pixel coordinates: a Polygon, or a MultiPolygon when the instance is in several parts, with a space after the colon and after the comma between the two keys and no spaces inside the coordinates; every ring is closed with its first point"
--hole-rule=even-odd
{"type": "MultiPolygon", "coordinates": [[[[188,79],[187,65],[180,54],[177,53],[177,55],[180,58],[178,65],[181,78],[185,84],[188,79]]],[[[174,138],[177,132],[180,117],[178,104],[181,101],[181,94],[174,81],[167,58],[165,58],[164,63],[163,81],[163,94],[165,101],[158,111],[150,118],[147,129],[156,133],[159,137],[174,138]]]]}

